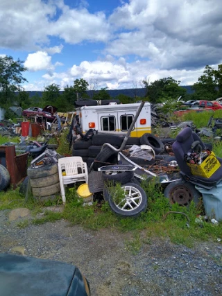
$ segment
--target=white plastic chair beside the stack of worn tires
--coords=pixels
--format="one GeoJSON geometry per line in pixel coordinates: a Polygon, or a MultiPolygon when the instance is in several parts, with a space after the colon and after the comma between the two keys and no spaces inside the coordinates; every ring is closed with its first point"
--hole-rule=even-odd
{"type": "Polygon", "coordinates": [[[60,190],[62,202],[65,204],[65,185],[84,181],[88,183],[87,164],[80,156],[71,156],[58,159],[58,174],[60,177],[60,190]]]}

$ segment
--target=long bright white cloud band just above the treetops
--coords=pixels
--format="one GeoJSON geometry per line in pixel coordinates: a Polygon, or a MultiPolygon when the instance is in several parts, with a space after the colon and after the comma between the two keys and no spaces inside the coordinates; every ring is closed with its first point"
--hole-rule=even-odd
{"type": "Polygon", "coordinates": [[[149,61],[125,62],[123,59],[108,61],[81,62],[74,65],[70,71],[62,73],[46,73],[42,76],[46,85],[56,83],[63,89],[67,85],[73,85],[76,78],[83,78],[87,82],[96,82],[98,89],[129,89],[142,87],[142,80],[153,82],[169,76],[180,80],[180,85],[193,85],[203,74],[203,68],[194,70],[155,69],[149,61]]]}

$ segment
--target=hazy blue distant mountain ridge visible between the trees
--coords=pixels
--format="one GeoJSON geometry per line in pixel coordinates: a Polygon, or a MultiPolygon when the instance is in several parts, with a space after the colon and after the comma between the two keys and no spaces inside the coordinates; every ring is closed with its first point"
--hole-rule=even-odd
{"type": "MultiPolygon", "coordinates": [[[[192,94],[194,91],[191,90],[191,85],[185,85],[185,86],[181,86],[184,87],[185,89],[187,89],[187,94],[192,94]]],[[[99,92],[95,91],[94,93],[99,92]]],[[[42,96],[43,92],[35,92],[35,91],[28,91],[29,96],[42,96]]],[[[60,92],[62,94],[62,91],[60,92]]],[[[87,94],[92,98],[92,94],[93,91],[87,91],[87,94]]],[[[108,90],[108,94],[110,94],[110,96],[112,98],[115,98],[116,96],[118,96],[119,94],[124,94],[126,96],[129,96],[130,98],[133,98],[135,96],[140,96],[140,97],[144,97],[146,94],[146,89],[145,88],[138,88],[138,89],[112,89],[112,90],[108,90]]]]}

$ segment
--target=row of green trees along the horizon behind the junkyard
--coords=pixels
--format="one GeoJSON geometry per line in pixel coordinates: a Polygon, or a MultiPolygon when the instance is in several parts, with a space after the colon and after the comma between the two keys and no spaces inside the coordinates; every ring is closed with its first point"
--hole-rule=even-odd
{"type": "MultiPolygon", "coordinates": [[[[55,105],[60,112],[71,111],[74,110],[75,101],[89,98],[87,90],[92,90],[92,99],[94,100],[111,99],[108,88],[97,90],[98,81],[91,80],[87,82],[83,78],[74,80],[74,84],[67,85],[62,92],[59,85],[51,84],[44,87],[42,96],[38,94],[29,96],[28,92],[24,91],[22,87],[22,84],[27,82],[23,76],[27,70],[22,60],[13,60],[8,55],[0,57],[0,107],[8,110],[8,107],[15,103],[22,109],[32,105],[37,107],[55,105]]],[[[143,80],[142,87],[146,90],[143,98],[137,96],[136,89],[133,98],[125,94],[119,94],[115,98],[119,99],[121,103],[134,103],[135,101],[145,100],[153,104],[175,101],[180,96],[183,101],[191,99],[213,101],[222,96],[222,64],[218,65],[218,69],[207,65],[203,75],[198,78],[194,85],[191,85],[191,89],[194,91],[192,94],[187,94],[187,90],[180,87],[180,81],[172,77],[162,78],[154,82],[143,80]]]]}

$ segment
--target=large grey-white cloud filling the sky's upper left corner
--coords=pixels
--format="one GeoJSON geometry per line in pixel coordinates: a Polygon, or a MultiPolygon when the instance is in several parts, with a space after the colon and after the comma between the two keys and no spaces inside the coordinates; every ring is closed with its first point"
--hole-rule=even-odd
{"type": "MultiPolygon", "coordinates": [[[[0,1],[1,47],[46,51],[51,36],[70,44],[108,40],[110,29],[103,12],[92,14],[83,6],[87,6],[86,1],[76,9],[66,6],[63,0],[0,1]]],[[[60,53],[61,49],[49,46],[47,52],[60,53]]]]}

